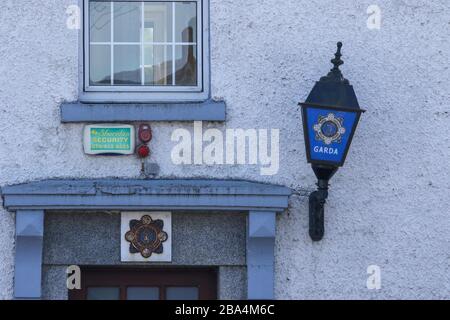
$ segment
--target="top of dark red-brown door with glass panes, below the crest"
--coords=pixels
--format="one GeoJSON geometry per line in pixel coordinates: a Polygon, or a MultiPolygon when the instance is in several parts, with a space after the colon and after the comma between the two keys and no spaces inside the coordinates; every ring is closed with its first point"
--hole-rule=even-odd
{"type": "Polygon", "coordinates": [[[215,269],[82,268],[69,300],[215,300],[215,269]]]}

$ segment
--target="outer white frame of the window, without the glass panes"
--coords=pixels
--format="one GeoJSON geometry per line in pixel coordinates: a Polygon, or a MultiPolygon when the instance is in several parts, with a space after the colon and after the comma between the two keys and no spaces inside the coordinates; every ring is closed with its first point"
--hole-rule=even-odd
{"type": "MultiPolygon", "coordinates": [[[[80,31],[79,100],[86,103],[191,102],[209,98],[209,0],[118,0],[121,2],[197,2],[197,81],[186,86],[90,86],[89,85],[89,1],[83,2],[80,31]]],[[[175,21],[173,21],[174,23],[175,21]]],[[[113,39],[111,39],[112,41],[113,39]]],[[[175,41],[175,39],[172,39],[175,41]]]]}

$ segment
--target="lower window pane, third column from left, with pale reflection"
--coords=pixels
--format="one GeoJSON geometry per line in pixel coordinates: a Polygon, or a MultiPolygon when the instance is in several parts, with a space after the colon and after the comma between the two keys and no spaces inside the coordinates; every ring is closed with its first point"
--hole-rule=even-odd
{"type": "Polygon", "coordinates": [[[172,46],[145,45],[145,84],[172,85],[172,46]]]}

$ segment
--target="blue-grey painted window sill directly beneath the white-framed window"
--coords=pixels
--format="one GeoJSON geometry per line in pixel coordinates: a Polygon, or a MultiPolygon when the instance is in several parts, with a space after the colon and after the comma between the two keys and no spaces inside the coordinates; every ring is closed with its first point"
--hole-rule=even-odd
{"type": "Polygon", "coordinates": [[[225,121],[225,102],[61,105],[61,122],[225,121]]]}

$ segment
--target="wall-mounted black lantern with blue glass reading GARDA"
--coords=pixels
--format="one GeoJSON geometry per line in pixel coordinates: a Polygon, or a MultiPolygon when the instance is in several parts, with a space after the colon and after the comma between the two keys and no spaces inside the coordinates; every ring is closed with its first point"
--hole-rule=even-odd
{"type": "Polygon", "coordinates": [[[318,179],[317,191],[309,196],[309,235],[320,241],[324,234],[324,204],[328,181],[342,167],[361,113],[355,91],[339,66],[342,43],[337,43],[334,65],[320,78],[302,106],[306,157],[318,179]]]}

